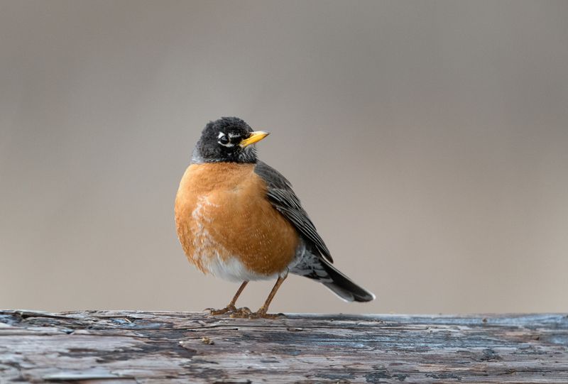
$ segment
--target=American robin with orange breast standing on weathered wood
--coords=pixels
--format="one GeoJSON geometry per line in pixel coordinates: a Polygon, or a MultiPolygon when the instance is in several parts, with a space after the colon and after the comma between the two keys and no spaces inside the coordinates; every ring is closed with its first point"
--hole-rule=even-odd
{"type": "Polygon", "coordinates": [[[254,143],[266,136],[236,117],[209,122],[175,197],[175,224],[190,262],[203,273],[242,282],[229,305],[212,314],[271,317],[268,305],[288,273],[322,282],[348,302],[373,300],[332,265],[290,182],[256,158],[254,143]],[[257,312],[236,309],[249,281],[273,278],[257,312]]]}

